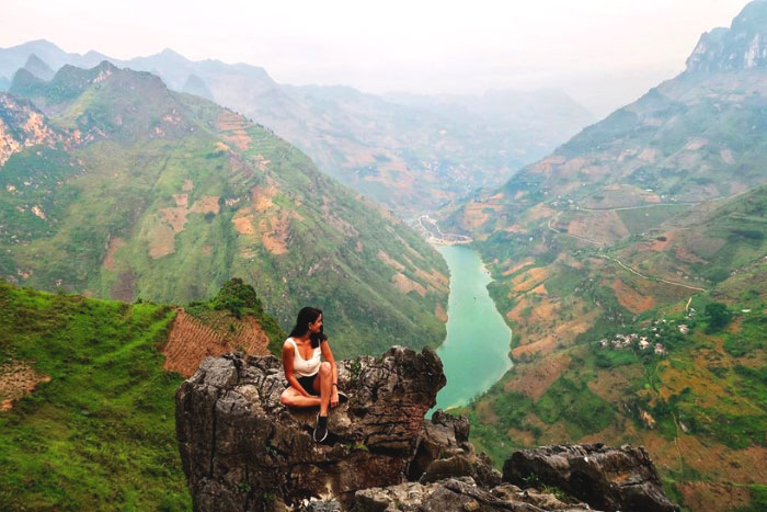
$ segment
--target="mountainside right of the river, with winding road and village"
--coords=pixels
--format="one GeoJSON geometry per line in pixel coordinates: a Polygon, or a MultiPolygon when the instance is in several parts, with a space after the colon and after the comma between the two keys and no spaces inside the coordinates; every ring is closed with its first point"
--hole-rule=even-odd
{"type": "Polygon", "coordinates": [[[513,326],[515,367],[466,409],[496,460],[639,444],[688,510],[760,510],[766,14],[749,3],[682,75],[444,212],[513,326]]]}

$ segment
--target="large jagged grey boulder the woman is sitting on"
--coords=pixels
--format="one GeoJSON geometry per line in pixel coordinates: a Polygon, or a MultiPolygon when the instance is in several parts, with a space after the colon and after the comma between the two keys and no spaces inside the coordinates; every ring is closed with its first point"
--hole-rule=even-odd
{"type": "Polygon", "coordinates": [[[331,412],[328,444],[311,440],[314,410],[288,410],[279,360],[205,360],[179,388],[176,435],[195,510],[272,510],[330,493],[405,481],[424,413],[445,385],[431,349],[394,346],[339,363],[348,402],[331,412]]]}

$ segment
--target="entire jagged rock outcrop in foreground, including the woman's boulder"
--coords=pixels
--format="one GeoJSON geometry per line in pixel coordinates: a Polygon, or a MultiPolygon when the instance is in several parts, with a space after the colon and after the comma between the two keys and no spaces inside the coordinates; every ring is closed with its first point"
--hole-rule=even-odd
{"type": "Polygon", "coordinates": [[[206,360],[176,392],[194,509],[589,510],[582,499],[604,510],[676,510],[646,453],[630,446],[520,452],[502,476],[469,443],[465,418],[437,411],[424,420],[445,383],[431,349],[393,346],[380,357],[343,361],[339,386],[350,399],[331,412],[331,436],[318,444],[317,410],[279,403],[285,377],[276,357],[206,360]]]}

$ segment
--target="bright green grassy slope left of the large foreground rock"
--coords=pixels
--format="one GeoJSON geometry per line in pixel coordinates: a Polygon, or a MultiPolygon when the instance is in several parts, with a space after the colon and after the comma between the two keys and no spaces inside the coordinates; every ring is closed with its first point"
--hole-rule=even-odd
{"type": "Polygon", "coordinates": [[[0,366],[50,377],[0,412],[0,510],[188,510],[167,306],[0,282],[0,366]]]}

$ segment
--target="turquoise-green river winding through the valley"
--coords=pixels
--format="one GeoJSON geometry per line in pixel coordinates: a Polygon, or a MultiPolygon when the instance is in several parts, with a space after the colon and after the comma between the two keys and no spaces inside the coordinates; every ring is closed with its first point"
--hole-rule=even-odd
{"type": "Polygon", "coordinates": [[[447,386],[435,409],[463,406],[512,367],[512,331],[490,298],[490,273],[479,253],[465,246],[438,246],[450,269],[447,337],[437,349],[447,386]]]}

